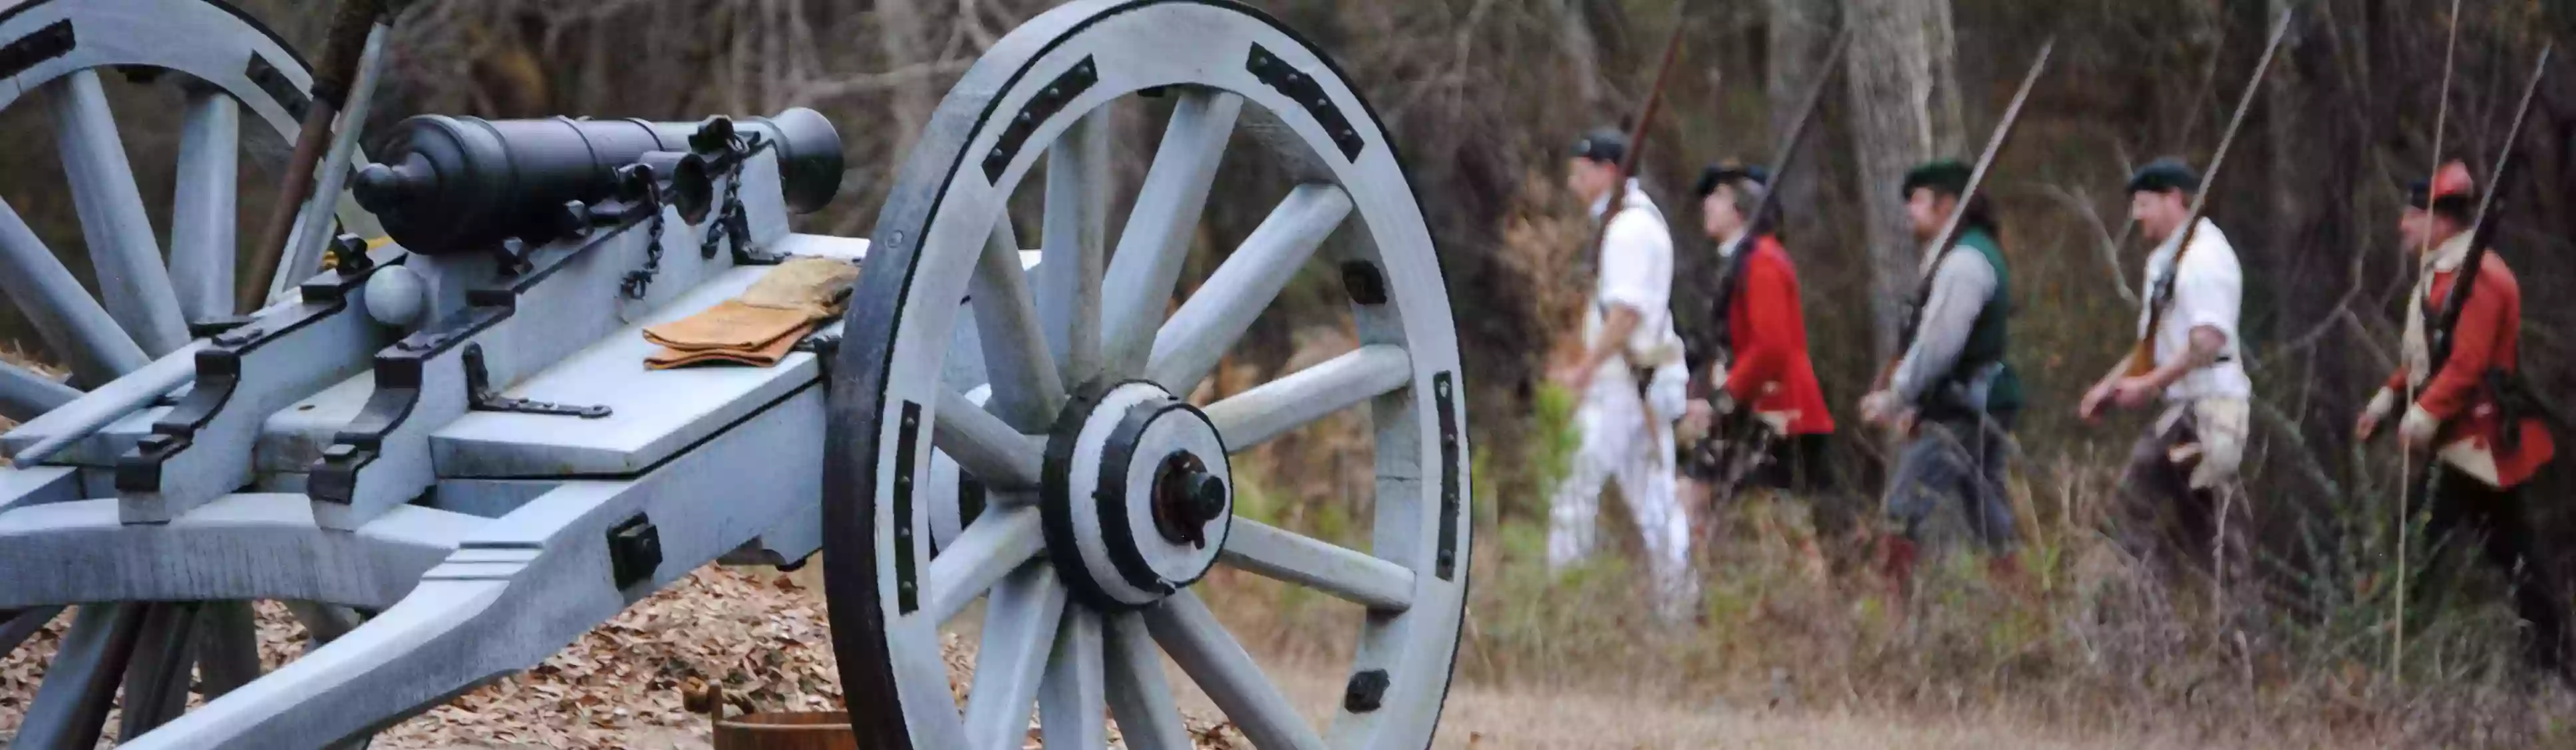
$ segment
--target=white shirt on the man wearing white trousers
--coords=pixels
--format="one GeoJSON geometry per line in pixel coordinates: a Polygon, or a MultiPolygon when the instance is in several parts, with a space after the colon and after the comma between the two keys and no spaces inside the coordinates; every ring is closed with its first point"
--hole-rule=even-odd
{"type": "MultiPolygon", "coordinates": [[[[1592,201],[1592,216],[1607,209],[1610,196],[1592,201]]],[[[1628,332],[1633,351],[1654,348],[1672,330],[1672,229],[1664,227],[1664,214],[1633,178],[1628,180],[1628,204],[1602,229],[1600,286],[1592,291],[1592,302],[1584,312],[1584,345],[1600,345],[1602,312],[1610,304],[1636,309],[1638,322],[1628,332]]],[[[1620,356],[1602,361],[1595,379],[1625,381],[1628,361],[1620,356]]]]}

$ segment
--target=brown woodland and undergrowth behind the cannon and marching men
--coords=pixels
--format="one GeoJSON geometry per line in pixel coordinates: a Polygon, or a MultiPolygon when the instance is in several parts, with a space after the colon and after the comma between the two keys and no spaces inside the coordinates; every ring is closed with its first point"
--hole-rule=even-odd
{"type": "MultiPolygon", "coordinates": [[[[2506,616],[2488,606],[2496,582],[2476,572],[2465,585],[2478,595],[2409,613],[2409,639],[2421,631],[2424,647],[2391,668],[2385,580],[2396,572],[2398,461],[2388,443],[2354,446],[2349,425],[2393,363],[2411,281],[2396,219],[2403,183],[2437,157],[2447,34],[2458,28],[2442,157],[2465,157],[2486,188],[2514,95],[2540,46],[2576,28],[2576,3],[2470,0],[2458,18],[2442,0],[1703,0],[1680,15],[1674,3],[1252,3],[1355,75],[1409,160],[1440,242],[1468,358],[1479,513],[1497,531],[1479,559],[1502,572],[1479,577],[1481,631],[1463,665],[1471,675],[1615,675],[1618,665],[1672,655],[1654,649],[1680,649],[1677,680],[1777,683],[1775,662],[1816,662],[1811,670],[1829,678],[1801,680],[1837,701],[1996,701],[2102,722],[2079,714],[2105,706],[2105,696],[2143,696],[2146,709],[2112,706],[2195,706],[2249,719],[2213,719],[2244,732],[2300,716],[2468,745],[2566,737],[2553,735],[2566,732],[2566,696],[2527,698],[2496,657],[2512,652],[2506,616]],[[2092,528],[2136,418],[2084,428],[2074,402],[2128,348],[2136,325],[2133,286],[2148,247],[2125,227],[2128,170],[2159,155],[2208,162],[2282,10],[2298,10],[2298,21],[2210,201],[2249,281],[2244,351],[2259,407],[2246,477],[2264,593],[2200,601],[2197,590],[2151,585],[2105,562],[2092,528]],[[1628,588],[1615,562],[1610,575],[1574,582],[1528,570],[1543,490],[1566,446],[1564,394],[1543,384],[1548,358],[1535,353],[1569,345],[1589,289],[1579,250],[1587,229],[1561,191],[1564,152],[1577,131],[1633,116],[1674,18],[1685,46],[1664,116],[1649,124],[1643,175],[1685,235],[1674,289],[1685,327],[1705,325],[1716,255],[1690,237],[1698,216],[1682,188],[1710,160],[1767,160],[1795,98],[1819,75],[1837,75],[1783,191],[1816,366],[1847,425],[1839,461],[1855,482],[1829,497],[1757,497],[1731,513],[1716,559],[1734,567],[1718,567],[1726,585],[1710,595],[1713,631],[1723,634],[1638,647],[1618,637],[1636,624],[1620,613],[1628,588]],[[1852,49],[1842,70],[1821,70],[1837,28],[1852,31],[1852,49]],[[1973,157],[2050,36],[2056,59],[1989,180],[2014,276],[2012,363],[2032,387],[2014,495],[2032,518],[2045,595],[1986,603],[1981,582],[1960,580],[1945,601],[1953,608],[1935,603],[1935,616],[1899,624],[1857,595],[1860,585],[1816,585],[1855,575],[1850,531],[1868,528],[1883,469],[1850,407],[1888,353],[1896,299],[1911,286],[1917,247],[1904,237],[1896,178],[1935,155],[1973,157]],[[1780,539],[1819,541],[1832,572],[1798,572],[1798,554],[1780,539]]],[[[242,5],[307,54],[317,49],[319,5],[242,5]]],[[[422,0],[397,26],[368,131],[430,111],[698,119],[814,106],[840,126],[850,173],[840,198],[804,216],[801,229],[866,235],[899,155],[948,82],[1046,5],[422,0]]],[[[170,85],[118,82],[113,95],[118,111],[178,111],[170,85]]],[[[1118,168],[1133,186],[1159,119],[1131,116],[1121,129],[1128,160],[1118,168]]],[[[0,131],[36,134],[46,121],[41,108],[21,106],[0,111],[0,131]]],[[[144,193],[167,196],[175,119],[129,116],[126,147],[144,193]]],[[[265,216],[283,149],[245,152],[245,227],[265,216]]],[[[0,142],[0,196],[52,247],[75,255],[77,216],[67,193],[49,188],[62,186],[54,160],[44,137],[0,142]]],[[[2568,394],[2576,307],[2553,296],[2576,281],[2576,75],[2566,62],[2540,88],[2519,160],[2499,253],[2530,291],[2524,369],[2543,392],[2568,394]]],[[[1193,276],[1249,235],[1267,206],[1270,196],[1216,196],[1193,276]]],[[[155,211],[167,227],[165,209],[155,211]]],[[[88,273],[85,260],[67,260],[88,273]]],[[[1262,317],[1221,389],[1345,345],[1337,320],[1347,314],[1340,294],[1327,294],[1337,281],[1316,276],[1262,317]]],[[[0,309],[0,338],[41,358],[13,309],[0,309]]],[[[1342,456],[1365,456],[1363,430],[1321,430],[1267,451],[1267,466],[1296,472],[1273,472],[1265,492],[1278,500],[1262,513],[1327,531],[1365,518],[1365,497],[1345,492],[1365,487],[1365,477],[1350,477],[1365,461],[1342,456]]],[[[2576,508],[2561,500],[2576,490],[2571,477],[2550,472],[2530,495],[2545,539],[2576,534],[2576,508]]],[[[2561,570],[2576,562],[2563,544],[2550,552],[2561,570]]],[[[1298,621],[1296,601],[1257,606],[1298,621]]]]}

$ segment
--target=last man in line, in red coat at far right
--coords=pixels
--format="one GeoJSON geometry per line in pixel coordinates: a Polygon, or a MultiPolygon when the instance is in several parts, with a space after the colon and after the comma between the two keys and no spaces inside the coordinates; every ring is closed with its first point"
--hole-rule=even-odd
{"type": "Polygon", "coordinates": [[[2450,351],[2432,351],[2437,312],[2465,276],[2470,229],[2478,222],[2473,193],[2460,162],[2409,188],[2398,229],[2421,276],[2406,296],[2406,358],[2362,410],[2354,433],[2370,441],[2398,418],[2398,443],[2414,456],[2429,454],[2429,461],[2416,461],[2424,474],[2411,477],[2421,492],[2409,495],[2416,503],[2409,515],[2432,503],[2424,531],[2437,549],[2470,541],[2445,539],[2452,531],[2486,536],[2486,562],[2512,582],[2517,611],[2530,624],[2522,631],[2524,657],[2568,678],[2558,575],[2537,554],[2522,503],[2524,482],[2558,446],[2522,384],[2522,286],[2494,250],[2478,260],[2450,330],[2450,351]]]}

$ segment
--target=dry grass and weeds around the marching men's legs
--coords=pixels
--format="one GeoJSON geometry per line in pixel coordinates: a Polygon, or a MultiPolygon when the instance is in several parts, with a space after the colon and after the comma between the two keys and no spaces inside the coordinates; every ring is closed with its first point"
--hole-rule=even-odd
{"type": "MultiPolygon", "coordinates": [[[[1991,732],[2084,747],[2576,742],[2576,696],[2519,668],[2494,580],[2439,580],[2463,593],[2409,616],[2409,657],[2388,673],[2385,585],[2370,564],[2293,570],[2267,559],[2262,595],[2239,590],[2213,603],[2208,582],[2164,582],[2097,531],[2115,477],[2079,459],[2017,469],[2012,492],[2030,518],[2022,531],[2032,572],[2022,595],[1953,549],[1935,554],[1919,593],[1899,606],[1865,567],[1829,570],[1808,552],[1860,557],[1855,539],[1816,536],[1814,503],[1850,508],[1868,497],[1752,495],[1716,518],[1703,549],[1703,626],[1664,631],[1646,619],[1620,513],[1605,510],[1602,521],[1628,549],[1551,577],[1543,513],[1528,513],[1543,503],[1497,490],[1546,485],[1492,477],[1497,464],[1540,474],[1561,466],[1564,399],[1538,402],[1520,451],[1497,456],[1486,443],[1479,459],[1479,505],[1502,513],[1479,526],[1458,665],[1471,698],[1453,701],[1455,722],[1494,727],[1471,729],[1486,732],[1486,745],[1473,747],[1994,747],[1991,732]],[[1597,701],[1600,716],[1582,719],[1595,714],[1582,701],[1597,701]],[[1909,740],[1868,735],[1880,732],[1873,727],[1909,740]],[[1785,740],[1806,732],[1842,740],[1785,740]]],[[[1278,523],[1345,544],[1365,536],[1340,526],[1365,518],[1363,503],[1337,500],[1352,495],[1298,490],[1309,474],[1280,474],[1260,456],[1239,466],[1267,472],[1260,477],[1270,482],[1247,487],[1267,497],[1278,523]]],[[[1355,616],[1345,606],[1293,588],[1229,590],[1229,621],[1270,624],[1262,649],[1345,657],[1337,639],[1355,616]]],[[[2030,742],[2040,740],[2004,747],[2030,742]]]]}

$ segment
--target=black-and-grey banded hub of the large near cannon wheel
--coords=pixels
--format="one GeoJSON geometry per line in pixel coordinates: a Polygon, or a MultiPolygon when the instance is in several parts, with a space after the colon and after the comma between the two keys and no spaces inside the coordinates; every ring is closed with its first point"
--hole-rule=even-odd
{"type": "Polygon", "coordinates": [[[1048,436],[1038,497],[1056,575],[1103,608],[1198,582],[1231,528],[1231,482],[1198,407],[1146,381],[1082,389],[1048,436]]]}

